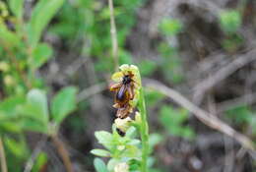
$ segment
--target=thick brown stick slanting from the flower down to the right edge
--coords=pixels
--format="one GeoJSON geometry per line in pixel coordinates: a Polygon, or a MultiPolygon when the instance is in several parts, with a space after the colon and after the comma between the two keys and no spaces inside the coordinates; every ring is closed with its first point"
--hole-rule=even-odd
{"type": "Polygon", "coordinates": [[[186,108],[191,113],[193,113],[200,121],[202,121],[207,126],[213,129],[216,129],[224,133],[225,135],[233,138],[238,143],[241,143],[247,149],[250,149],[250,150],[255,149],[254,143],[249,138],[236,132],[234,129],[232,129],[230,126],[225,124],[223,121],[218,119],[213,114],[199,108],[198,106],[193,104],[191,101],[189,101],[187,98],[185,98],[183,95],[181,95],[179,92],[175,91],[174,89],[164,86],[160,82],[156,82],[156,81],[148,81],[146,86],[154,88],[160,91],[162,94],[168,96],[177,104],[181,105],[182,107],[186,108]]]}

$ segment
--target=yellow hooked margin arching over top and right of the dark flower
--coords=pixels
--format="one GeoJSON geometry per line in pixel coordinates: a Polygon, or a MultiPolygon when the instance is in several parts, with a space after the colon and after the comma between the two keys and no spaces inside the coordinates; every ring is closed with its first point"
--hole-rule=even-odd
{"type": "Polygon", "coordinates": [[[135,107],[138,103],[138,100],[140,98],[140,88],[142,86],[142,82],[141,82],[141,76],[140,76],[140,71],[138,69],[137,66],[135,65],[127,65],[127,64],[124,64],[124,65],[121,65],[119,67],[119,72],[116,72],[112,75],[111,79],[114,81],[114,82],[122,82],[123,80],[123,77],[125,75],[128,75],[129,72],[131,72],[134,76],[132,77],[132,80],[134,82],[134,98],[132,100],[129,101],[129,104],[132,106],[132,107],[135,107]]]}

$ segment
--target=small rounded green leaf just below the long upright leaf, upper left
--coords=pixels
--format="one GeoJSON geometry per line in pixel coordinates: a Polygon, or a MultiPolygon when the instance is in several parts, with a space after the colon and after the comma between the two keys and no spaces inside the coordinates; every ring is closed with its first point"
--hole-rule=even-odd
{"type": "Polygon", "coordinates": [[[32,67],[37,69],[41,67],[52,56],[52,48],[46,43],[39,43],[32,52],[32,67]]]}

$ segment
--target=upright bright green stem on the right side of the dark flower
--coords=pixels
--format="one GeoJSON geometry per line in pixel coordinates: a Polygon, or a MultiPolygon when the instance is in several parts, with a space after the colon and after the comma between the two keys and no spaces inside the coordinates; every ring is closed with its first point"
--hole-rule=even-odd
{"type": "Polygon", "coordinates": [[[139,106],[138,106],[140,113],[141,113],[141,140],[142,140],[142,166],[141,171],[147,172],[147,160],[149,155],[149,126],[147,122],[147,111],[146,111],[146,105],[145,105],[145,98],[144,98],[144,92],[143,88],[140,88],[140,100],[139,100],[139,106]]]}

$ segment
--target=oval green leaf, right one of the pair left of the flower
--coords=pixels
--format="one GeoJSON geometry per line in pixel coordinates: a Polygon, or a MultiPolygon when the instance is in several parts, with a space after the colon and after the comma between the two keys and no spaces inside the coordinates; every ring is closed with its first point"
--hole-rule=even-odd
{"type": "Polygon", "coordinates": [[[76,109],[76,92],[76,87],[68,86],[61,89],[53,97],[51,113],[54,122],[57,124],[60,124],[68,114],[76,109]]]}

